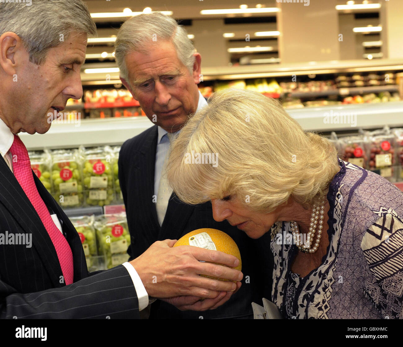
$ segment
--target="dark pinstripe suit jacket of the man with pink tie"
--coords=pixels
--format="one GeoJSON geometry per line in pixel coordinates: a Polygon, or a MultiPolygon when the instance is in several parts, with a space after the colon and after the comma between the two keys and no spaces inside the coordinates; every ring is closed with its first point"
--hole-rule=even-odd
{"type": "Polygon", "coordinates": [[[139,318],[133,282],[123,265],[89,273],[69,218],[32,172],[48,209],[57,214],[73,252],[66,286],[53,243],[17,179],[0,156],[0,233],[31,233],[32,247],[0,245],[0,318],[139,318]],[[62,283],[60,283],[62,282],[62,283]]]}

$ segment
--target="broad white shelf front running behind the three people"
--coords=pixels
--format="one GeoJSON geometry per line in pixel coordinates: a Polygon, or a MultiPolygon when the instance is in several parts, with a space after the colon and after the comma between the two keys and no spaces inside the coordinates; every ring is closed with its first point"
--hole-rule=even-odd
{"type": "MultiPolygon", "coordinates": [[[[359,127],[370,129],[403,126],[403,101],[383,102],[378,104],[349,104],[323,107],[289,109],[287,112],[301,124],[305,130],[337,131],[354,130],[359,127]],[[353,124],[326,123],[325,116],[349,114],[355,117],[353,124]]],[[[350,120],[353,118],[349,118],[350,120]]],[[[52,124],[44,135],[21,133],[21,139],[28,150],[43,148],[77,148],[97,145],[119,145],[125,140],[152,127],[153,123],[145,116],[127,118],[83,119],[80,124],[52,124]]]]}

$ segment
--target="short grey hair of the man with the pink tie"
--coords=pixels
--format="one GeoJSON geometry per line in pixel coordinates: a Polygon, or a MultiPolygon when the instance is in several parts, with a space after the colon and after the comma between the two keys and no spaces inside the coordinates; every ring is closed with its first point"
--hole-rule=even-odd
{"type": "Polygon", "coordinates": [[[32,6],[0,3],[0,35],[7,31],[22,39],[29,60],[37,65],[73,31],[97,36],[95,23],[81,0],[32,0],[32,6]]]}

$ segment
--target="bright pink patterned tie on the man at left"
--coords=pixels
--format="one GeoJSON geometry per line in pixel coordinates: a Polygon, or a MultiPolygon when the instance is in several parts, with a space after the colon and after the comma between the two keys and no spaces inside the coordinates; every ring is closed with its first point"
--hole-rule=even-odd
{"type": "Polygon", "coordinates": [[[27,148],[25,148],[25,145],[17,135],[14,135],[14,142],[10,148],[10,152],[13,158],[12,169],[15,178],[21,185],[21,188],[24,190],[48,231],[50,239],[56,249],[60,267],[62,268],[64,283],[69,285],[73,283],[73,253],[71,252],[69,243],[62,233],[60,233],[56,224],[54,224],[48,208],[38,193],[35,181],[33,180],[27,148]],[[14,160],[14,158],[16,158],[16,160],[14,160]]]}

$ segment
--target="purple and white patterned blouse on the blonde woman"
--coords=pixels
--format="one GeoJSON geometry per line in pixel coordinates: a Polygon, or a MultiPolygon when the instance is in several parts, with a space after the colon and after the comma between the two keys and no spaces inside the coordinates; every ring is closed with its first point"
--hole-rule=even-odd
{"type": "Polygon", "coordinates": [[[297,246],[274,237],[291,233],[290,223],[270,230],[272,301],[285,318],[403,318],[403,193],[373,172],[339,165],[322,265],[299,278],[291,272],[297,246]]]}

